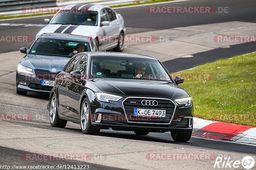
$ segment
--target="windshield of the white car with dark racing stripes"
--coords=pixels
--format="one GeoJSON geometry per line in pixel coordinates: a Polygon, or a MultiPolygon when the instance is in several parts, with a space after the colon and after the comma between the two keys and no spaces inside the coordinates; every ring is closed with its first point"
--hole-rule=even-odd
{"type": "Polygon", "coordinates": [[[60,11],[51,24],[93,25],[98,24],[97,11],[71,12],[71,10],[60,11]]]}

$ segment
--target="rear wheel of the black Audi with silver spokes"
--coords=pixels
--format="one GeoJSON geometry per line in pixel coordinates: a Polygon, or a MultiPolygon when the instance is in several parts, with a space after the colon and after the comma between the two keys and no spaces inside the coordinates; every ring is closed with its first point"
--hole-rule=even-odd
{"type": "Polygon", "coordinates": [[[50,124],[52,127],[64,128],[67,125],[66,120],[62,120],[58,116],[58,109],[57,109],[57,100],[55,94],[52,95],[51,102],[50,102],[50,124]]]}

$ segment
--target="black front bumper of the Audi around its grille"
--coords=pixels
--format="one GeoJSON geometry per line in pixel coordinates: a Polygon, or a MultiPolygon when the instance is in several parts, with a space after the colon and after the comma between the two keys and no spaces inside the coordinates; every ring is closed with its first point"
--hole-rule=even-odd
{"type": "Polygon", "coordinates": [[[128,121],[125,113],[123,99],[119,102],[110,103],[97,101],[96,105],[91,105],[92,125],[99,129],[112,128],[119,131],[134,131],[146,129],[150,132],[165,131],[190,131],[193,128],[193,104],[188,107],[175,104],[175,110],[168,123],[152,123],[147,121],[128,121]],[[100,114],[100,119],[99,119],[100,114]]]}

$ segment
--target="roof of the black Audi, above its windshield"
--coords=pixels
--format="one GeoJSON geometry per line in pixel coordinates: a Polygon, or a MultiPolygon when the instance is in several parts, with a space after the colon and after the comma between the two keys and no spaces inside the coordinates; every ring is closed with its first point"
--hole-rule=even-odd
{"type": "Polygon", "coordinates": [[[83,52],[84,54],[91,56],[91,57],[131,57],[131,58],[142,58],[142,59],[151,59],[157,60],[155,57],[149,55],[142,55],[142,54],[133,54],[133,53],[118,53],[118,52],[83,52]]]}

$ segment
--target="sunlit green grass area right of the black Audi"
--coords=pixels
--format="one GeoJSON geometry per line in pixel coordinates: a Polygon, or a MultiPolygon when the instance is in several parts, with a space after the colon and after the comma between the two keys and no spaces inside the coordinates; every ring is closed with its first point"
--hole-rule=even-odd
{"type": "Polygon", "coordinates": [[[255,66],[256,53],[251,53],[174,75],[183,76],[180,86],[192,98],[195,117],[256,126],[255,66]]]}

